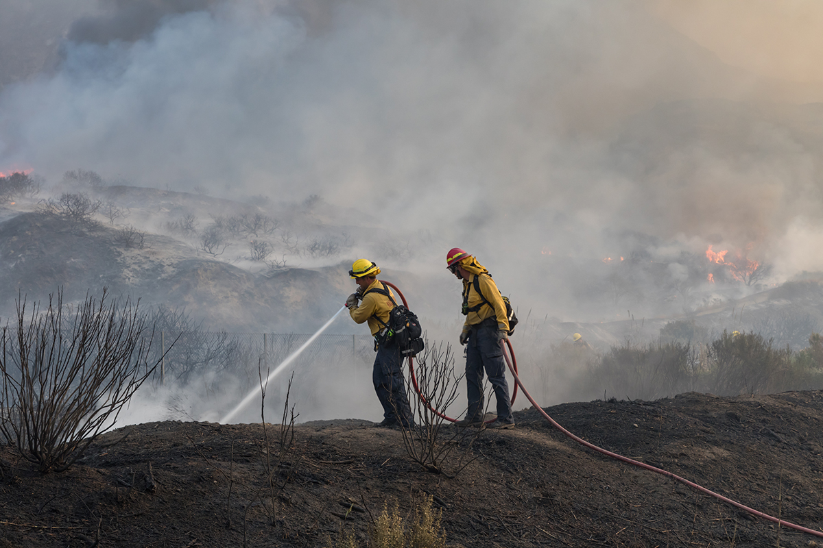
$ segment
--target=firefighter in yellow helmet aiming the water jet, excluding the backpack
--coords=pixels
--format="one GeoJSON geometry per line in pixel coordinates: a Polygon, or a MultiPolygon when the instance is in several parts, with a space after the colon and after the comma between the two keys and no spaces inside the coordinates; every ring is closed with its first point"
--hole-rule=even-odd
{"type": "Polygon", "coordinates": [[[370,260],[358,259],[351,265],[349,275],[355,280],[357,291],[346,299],[346,306],[351,319],[358,324],[368,322],[374,336],[377,356],[374,357],[372,381],[374,392],[383,406],[384,417],[377,426],[410,428],[414,425],[414,419],[400,366],[400,348],[394,343],[392,334],[388,333],[388,327],[385,326],[388,324],[388,314],[394,308],[394,304],[385,295],[369,290],[384,288],[392,298],[394,293],[384,283],[379,282],[377,274],[380,274],[380,269],[370,260]]]}

